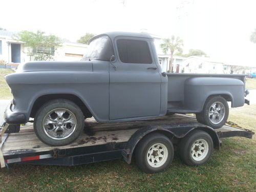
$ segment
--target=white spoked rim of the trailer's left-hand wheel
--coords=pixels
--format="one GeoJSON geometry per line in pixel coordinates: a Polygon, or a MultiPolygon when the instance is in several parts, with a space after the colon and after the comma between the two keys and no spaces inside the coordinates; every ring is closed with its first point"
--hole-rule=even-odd
{"type": "Polygon", "coordinates": [[[147,163],[152,167],[160,167],[166,162],[167,157],[167,147],[162,143],[156,143],[147,152],[147,163]]]}

